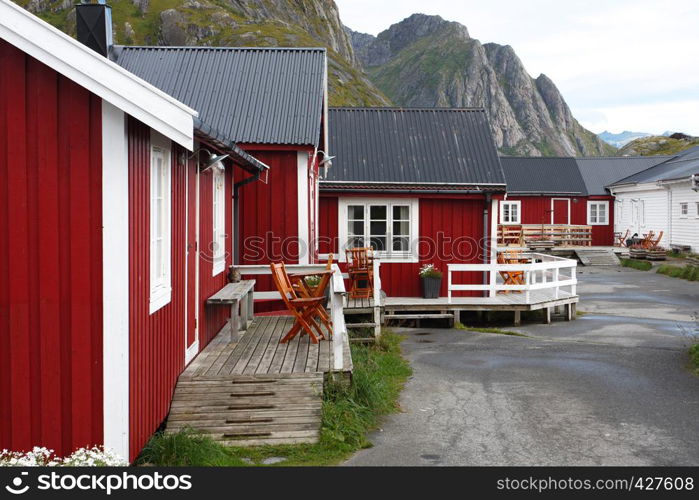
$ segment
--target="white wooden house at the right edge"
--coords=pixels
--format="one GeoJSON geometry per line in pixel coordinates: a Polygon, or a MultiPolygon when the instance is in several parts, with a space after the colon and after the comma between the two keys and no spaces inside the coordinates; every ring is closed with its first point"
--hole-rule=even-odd
{"type": "Polygon", "coordinates": [[[624,234],[663,232],[661,246],[699,252],[699,147],[609,186],[614,229],[624,234]]]}

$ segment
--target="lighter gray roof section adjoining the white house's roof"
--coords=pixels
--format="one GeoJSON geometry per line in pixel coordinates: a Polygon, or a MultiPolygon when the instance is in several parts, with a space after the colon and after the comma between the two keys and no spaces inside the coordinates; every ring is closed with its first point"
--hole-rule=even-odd
{"type": "Polygon", "coordinates": [[[614,156],[576,158],[580,175],[590,195],[609,194],[605,189],[613,182],[646,170],[672,156],[614,156]]]}

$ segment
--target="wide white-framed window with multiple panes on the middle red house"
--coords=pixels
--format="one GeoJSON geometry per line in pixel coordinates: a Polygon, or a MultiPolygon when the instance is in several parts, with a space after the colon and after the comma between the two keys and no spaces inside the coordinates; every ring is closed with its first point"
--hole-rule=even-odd
{"type": "Polygon", "coordinates": [[[417,262],[418,200],[341,198],[340,253],[353,247],[374,247],[383,260],[417,262]]]}

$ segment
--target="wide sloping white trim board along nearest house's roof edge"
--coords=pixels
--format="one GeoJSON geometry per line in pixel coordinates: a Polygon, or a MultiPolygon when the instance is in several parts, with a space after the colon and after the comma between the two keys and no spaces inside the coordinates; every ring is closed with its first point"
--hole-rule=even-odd
{"type": "Polygon", "coordinates": [[[195,110],[9,0],[0,0],[0,38],[181,146],[193,149],[195,110]]]}

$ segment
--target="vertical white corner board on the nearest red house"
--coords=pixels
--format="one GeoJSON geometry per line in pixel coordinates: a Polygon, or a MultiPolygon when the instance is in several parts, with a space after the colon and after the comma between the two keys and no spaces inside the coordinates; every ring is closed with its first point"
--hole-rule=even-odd
{"type": "Polygon", "coordinates": [[[129,169],[126,115],[102,104],[104,446],[129,459],[129,169]]]}

